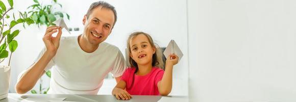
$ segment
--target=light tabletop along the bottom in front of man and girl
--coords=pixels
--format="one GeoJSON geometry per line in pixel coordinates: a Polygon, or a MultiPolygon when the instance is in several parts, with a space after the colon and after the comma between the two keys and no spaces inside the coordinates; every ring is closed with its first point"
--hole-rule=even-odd
{"type": "MultiPolygon", "coordinates": [[[[0,102],[23,101],[26,98],[66,98],[63,101],[188,101],[188,96],[148,96],[148,95],[132,95],[130,100],[117,100],[113,95],[76,95],[76,94],[16,94],[9,93],[8,98],[0,100],[0,102]]],[[[46,101],[46,100],[44,100],[46,101]]]]}

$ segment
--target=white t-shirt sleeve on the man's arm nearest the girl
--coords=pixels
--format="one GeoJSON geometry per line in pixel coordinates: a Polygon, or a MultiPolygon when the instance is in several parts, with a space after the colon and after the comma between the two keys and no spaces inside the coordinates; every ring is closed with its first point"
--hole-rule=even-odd
{"type": "Polygon", "coordinates": [[[114,78],[120,77],[122,75],[122,73],[124,73],[126,67],[127,67],[126,60],[125,60],[124,56],[122,55],[122,53],[120,52],[120,50],[118,49],[118,53],[116,55],[114,66],[111,70],[113,77],[114,78]]]}

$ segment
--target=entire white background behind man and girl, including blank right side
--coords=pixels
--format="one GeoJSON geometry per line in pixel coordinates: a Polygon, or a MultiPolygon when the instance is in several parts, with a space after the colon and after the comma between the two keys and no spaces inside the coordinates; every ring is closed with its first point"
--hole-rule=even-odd
{"type": "MultiPolygon", "coordinates": [[[[83,14],[94,1],[59,2],[71,16],[69,26],[82,28],[83,14]]],[[[25,9],[32,3],[15,5],[25,9]]],[[[150,33],[160,46],[170,39],[179,44],[184,57],[174,69],[173,95],[189,94],[192,101],[296,101],[296,1],[109,3],[117,9],[118,22],[107,42],[121,51],[128,35],[138,30],[150,33]]],[[[30,27],[17,37],[13,74],[30,66],[41,49],[38,36],[43,32],[30,27]]],[[[12,79],[13,85],[14,75],[12,79]]]]}

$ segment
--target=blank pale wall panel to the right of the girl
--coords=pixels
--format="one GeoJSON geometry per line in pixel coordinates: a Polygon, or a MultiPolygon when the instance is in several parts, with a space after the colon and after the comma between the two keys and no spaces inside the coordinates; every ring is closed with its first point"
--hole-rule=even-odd
{"type": "Polygon", "coordinates": [[[188,0],[192,101],[296,101],[296,1],[188,0]]]}

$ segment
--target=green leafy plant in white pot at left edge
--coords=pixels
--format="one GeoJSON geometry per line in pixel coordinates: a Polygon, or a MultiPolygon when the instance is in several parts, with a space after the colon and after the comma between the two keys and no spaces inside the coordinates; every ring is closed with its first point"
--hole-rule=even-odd
{"type": "Polygon", "coordinates": [[[20,32],[20,30],[15,30],[16,24],[27,23],[32,24],[34,21],[27,17],[27,13],[19,12],[19,18],[16,20],[13,13],[13,18],[10,18],[8,12],[13,9],[13,1],[8,0],[10,8],[0,1],[0,99],[6,98],[8,95],[8,89],[10,85],[10,60],[12,53],[17,48],[17,41],[14,39],[20,32]],[[9,51],[7,50],[9,48],[9,51]],[[2,65],[2,62],[9,57],[8,66],[2,65]]]}

